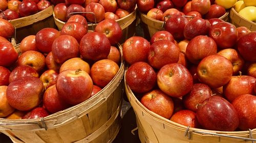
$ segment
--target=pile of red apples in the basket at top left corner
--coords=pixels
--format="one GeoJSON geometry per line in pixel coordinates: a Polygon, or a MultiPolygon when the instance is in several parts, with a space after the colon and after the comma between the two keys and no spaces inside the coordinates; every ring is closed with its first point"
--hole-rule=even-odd
{"type": "Polygon", "coordinates": [[[42,11],[51,6],[47,0],[1,0],[0,1],[0,18],[7,20],[17,19],[29,16],[42,11]]]}

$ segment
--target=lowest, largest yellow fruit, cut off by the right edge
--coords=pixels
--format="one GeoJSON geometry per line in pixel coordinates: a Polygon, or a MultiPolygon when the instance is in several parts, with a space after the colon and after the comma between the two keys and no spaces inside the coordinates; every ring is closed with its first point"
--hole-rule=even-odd
{"type": "Polygon", "coordinates": [[[240,10],[239,14],[247,20],[256,21],[256,7],[249,6],[240,10]]]}

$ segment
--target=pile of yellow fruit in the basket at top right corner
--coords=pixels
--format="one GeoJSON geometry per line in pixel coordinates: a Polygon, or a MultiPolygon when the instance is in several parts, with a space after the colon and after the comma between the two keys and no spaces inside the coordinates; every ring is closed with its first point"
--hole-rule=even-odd
{"type": "Polygon", "coordinates": [[[241,0],[234,4],[233,8],[243,18],[256,22],[256,1],[241,0]]]}

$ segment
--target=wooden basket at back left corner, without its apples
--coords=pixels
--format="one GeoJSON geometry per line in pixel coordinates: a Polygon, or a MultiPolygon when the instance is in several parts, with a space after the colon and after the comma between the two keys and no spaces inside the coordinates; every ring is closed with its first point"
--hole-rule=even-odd
{"type": "Polygon", "coordinates": [[[25,37],[35,35],[42,28],[57,28],[52,17],[54,6],[50,6],[36,14],[10,20],[16,27],[16,41],[20,43],[25,37]]]}

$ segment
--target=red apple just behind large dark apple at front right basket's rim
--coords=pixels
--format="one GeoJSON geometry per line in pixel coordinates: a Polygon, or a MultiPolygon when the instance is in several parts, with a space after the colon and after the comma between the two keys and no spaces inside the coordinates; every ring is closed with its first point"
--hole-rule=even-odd
{"type": "Polygon", "coordinates": [[[196,112],[198,104],[201,104],[205,99],[212,96],[212,91],[210,87],[204,83],[195,83],[191,91],[182,97],[183,105],[196,112]]]}

